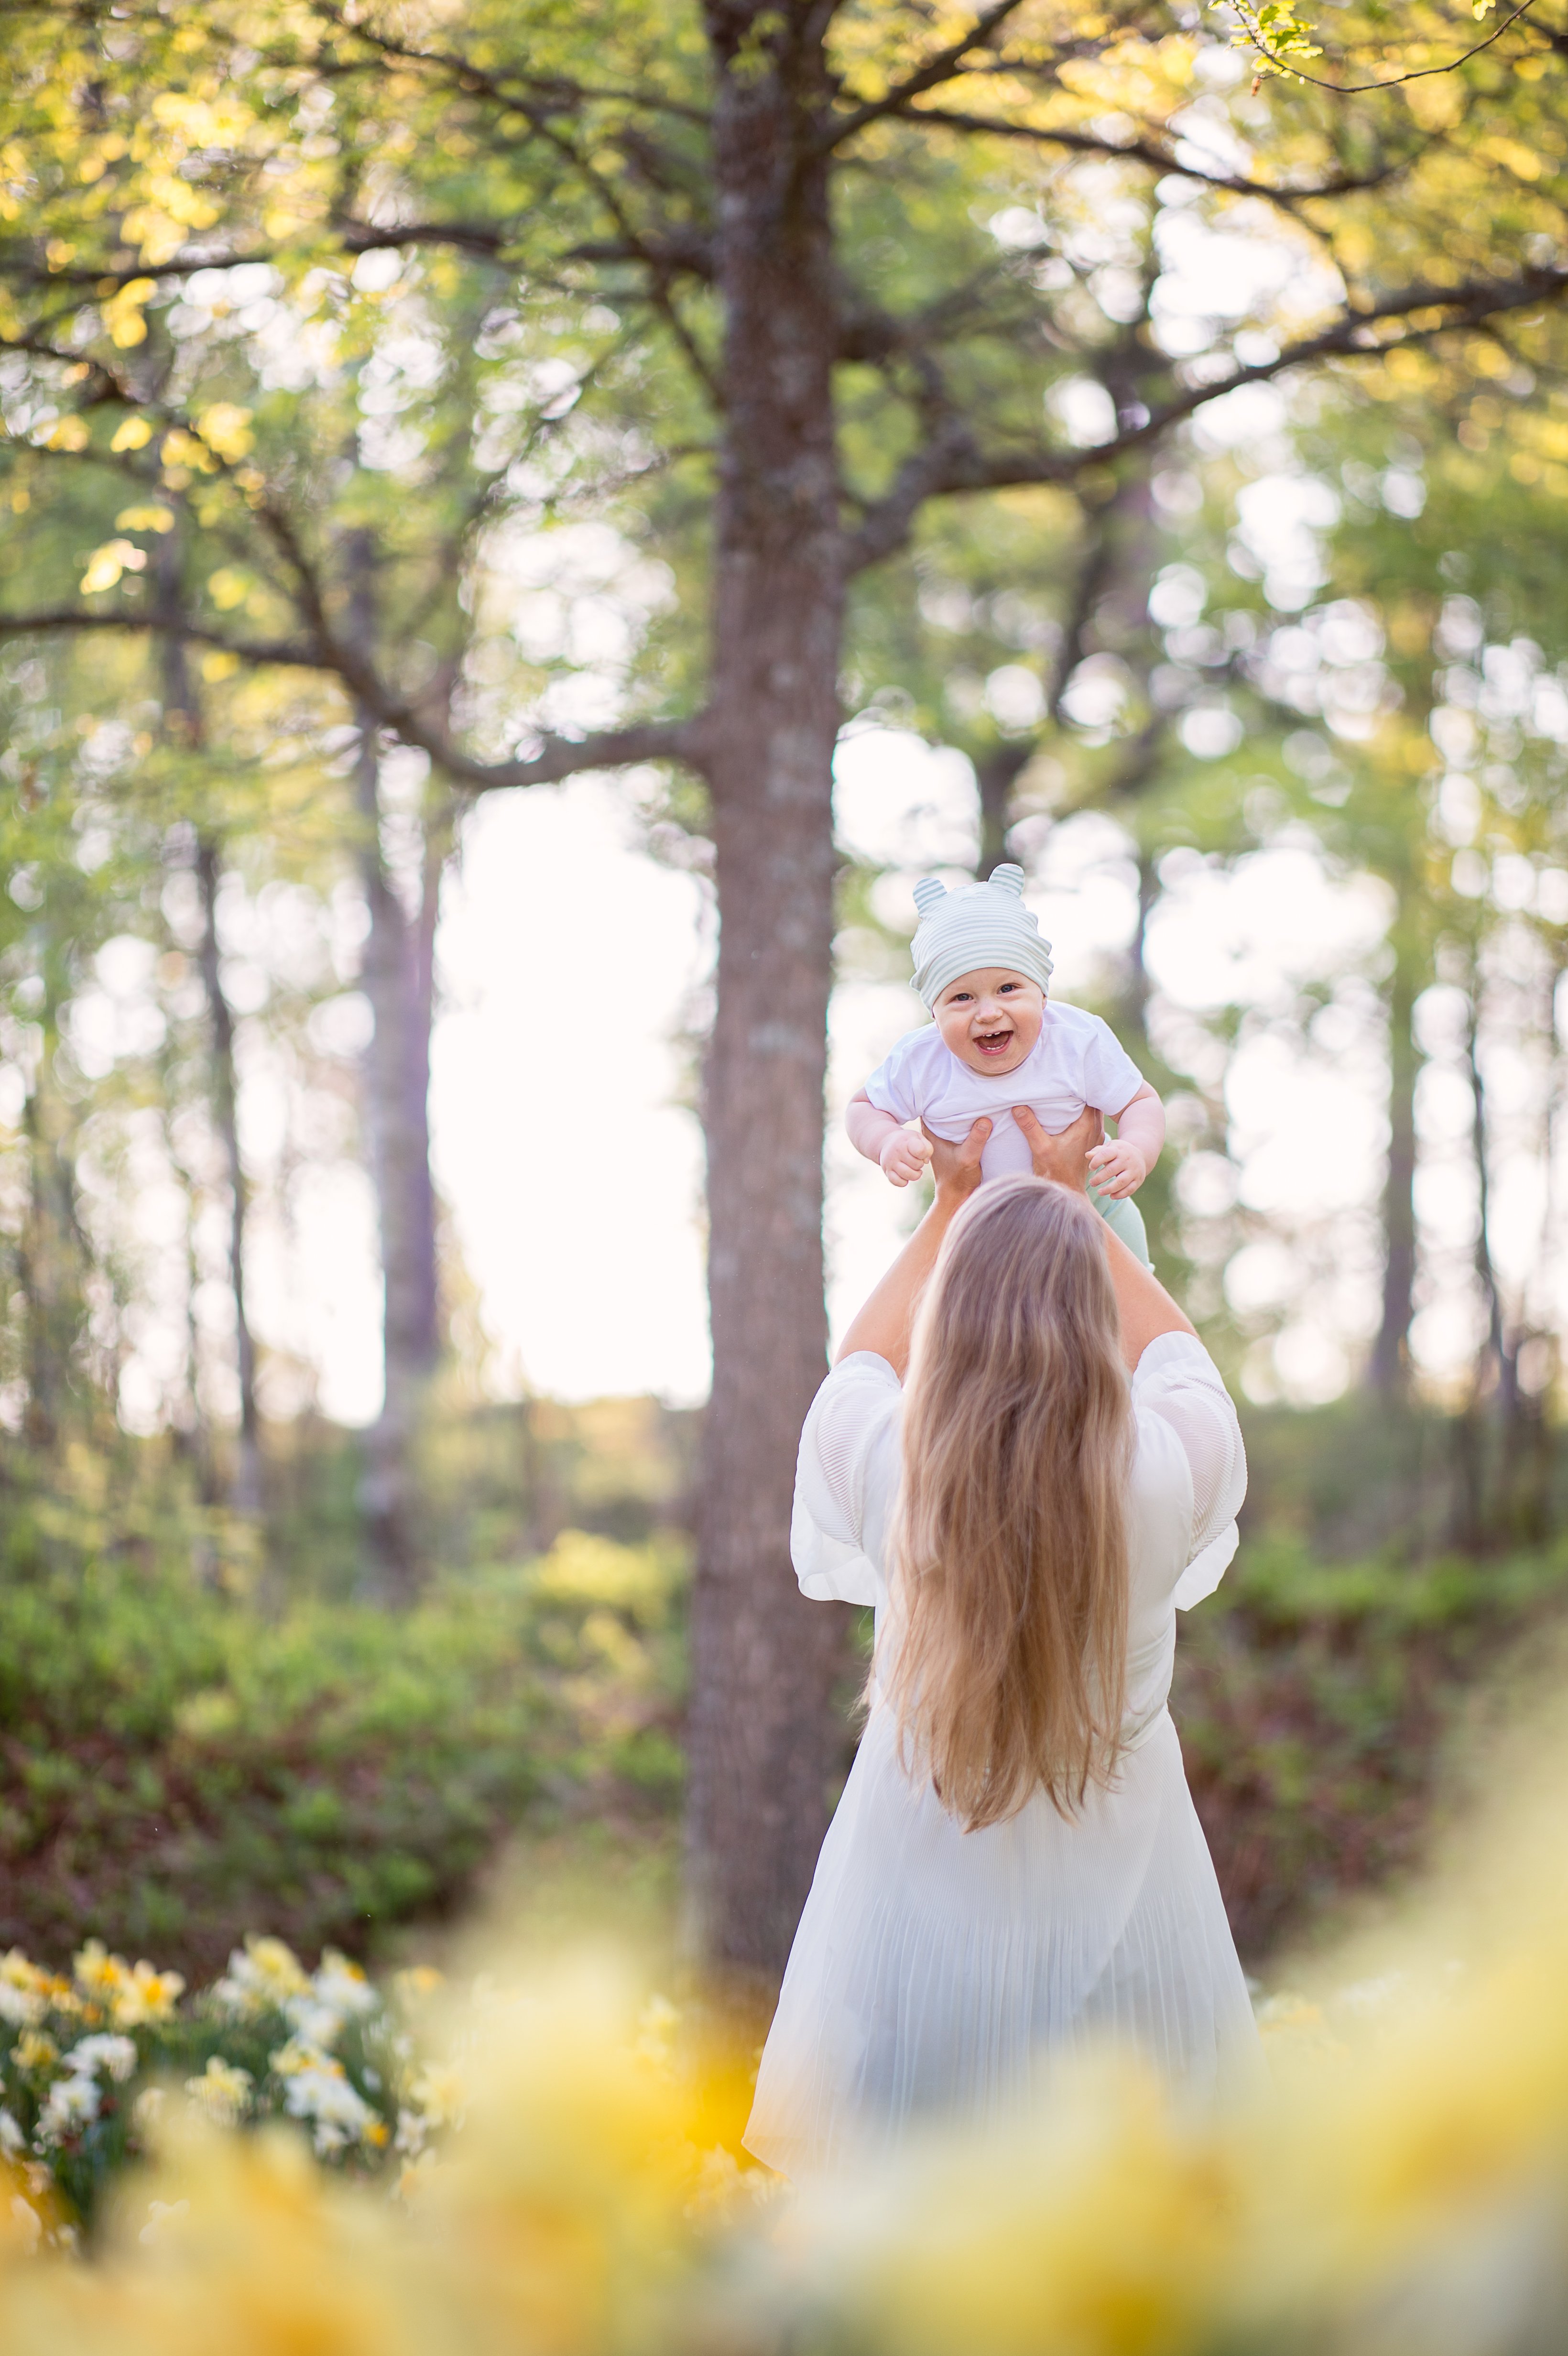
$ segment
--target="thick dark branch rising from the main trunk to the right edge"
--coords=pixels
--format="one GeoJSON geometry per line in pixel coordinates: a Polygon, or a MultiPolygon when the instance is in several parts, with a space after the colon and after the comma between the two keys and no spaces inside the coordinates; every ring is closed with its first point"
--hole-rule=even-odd
{"type": "Polygon", "coordinates": [[[1420,311],[1439,311],[1429,327],[1410,330],[1401,342],[1429,342],[1455,327],[1479,327],[1488,318],[1523,311],[1528,304],[1559,302],[1568,292],[1568,269],[1528,269],[1519,278],[1474,280],[1467,287],[1406,287],[1403,294],[1375,304],[1368,311],[1349,311],[1333,327],[1285,344],[1271,360],[1250,368],[1234,368],[1217,384],[1191,384],[1163,408],[1149,410],[1142,424],[1130,424],[1111,441],[1090,443],[1085,450],[994,450],[979,448],[965,419],[951,415],[932,434],[923,450],[904,462],[885,499],[866,509],[862,528],[848,544],[848,573],[892,556],[909,540],[916,514],[925,499],[958,490],[1015,490],[1029,483],[1071,483],[1090,466],[1107,466],[1156,441],[1172,424],[1191,417],[1222,393],[1234,393],[1241,384],[1271,384],[1293,368],[1333,358],[1370,358],[1377,353],[1375,330],[1384,323],[1406,320],[1420,311]]]}

